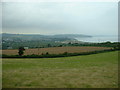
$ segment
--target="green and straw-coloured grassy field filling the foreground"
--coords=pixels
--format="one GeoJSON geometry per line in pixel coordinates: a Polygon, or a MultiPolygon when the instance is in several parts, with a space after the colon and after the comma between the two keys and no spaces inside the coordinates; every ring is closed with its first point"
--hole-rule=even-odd
{"type": "Polygon", "coordinates": [[[3,59],[3,88],[117,88],[118,51],[63,58],[3,59]]]}

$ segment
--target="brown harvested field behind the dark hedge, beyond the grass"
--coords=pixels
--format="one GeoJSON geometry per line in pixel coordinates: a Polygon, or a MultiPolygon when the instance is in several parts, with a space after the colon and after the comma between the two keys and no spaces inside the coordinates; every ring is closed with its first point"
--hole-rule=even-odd
{"type": "MultiPolygon", "coordinates": [[[[61,54],[64,52],[68,53],[80,53],[80,52],[90,52],[97,50],[111,49],[109,47],[51,47],[51,48],[38,48],[38,49],[26,49],[24,55],[41,55],[48,52],[49,54],[61,54]]],[[[18,55],[18,50],[2,50],[2,54],[6,55],[18,55]]]]}

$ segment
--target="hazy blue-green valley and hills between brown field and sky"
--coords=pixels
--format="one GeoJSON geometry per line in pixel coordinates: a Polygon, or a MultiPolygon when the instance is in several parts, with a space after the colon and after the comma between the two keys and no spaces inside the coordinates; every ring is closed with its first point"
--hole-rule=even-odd
{"type": "MultiPolygon", "coordinates": [[[[90,37],[81,34],[59,34],[59,35],[40,35],[40,34],[9,34],[2,33],[2,49],[18,49],[20,46],[29,48],[60,46],[63,43],[79,42],[75,37],[90,37]]],[[[1,48],[0,48],[1,49],[1,48]]]]}

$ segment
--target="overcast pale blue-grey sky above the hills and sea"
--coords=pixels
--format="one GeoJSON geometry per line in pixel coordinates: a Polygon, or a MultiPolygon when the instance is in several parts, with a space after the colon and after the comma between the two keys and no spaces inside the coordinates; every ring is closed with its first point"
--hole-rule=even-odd
{"type": "Polygon", "coordinates": [[[117,2],[3,2],[2,32],[117,35],[117,2]]]}

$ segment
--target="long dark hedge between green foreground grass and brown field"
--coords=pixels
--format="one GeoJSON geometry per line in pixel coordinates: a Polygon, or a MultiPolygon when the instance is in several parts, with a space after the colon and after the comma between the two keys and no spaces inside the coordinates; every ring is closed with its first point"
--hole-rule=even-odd
{"type": "Polygon", "coordinates": [[[64,52],[63,54],[43,54],[43,55],[2,55],[2,58],[58,58],[58,57],[70,57],[70,56],[81,56],[81,55],[91,55],[91,54],[98,54],[104,52],[111,52],[111,51],[118,51],[118,49],[108,49],[108,50],[97,50],[97,51],[90,51],[90,52],[81,52],[81,53],[68,53],[64,52]]]}

